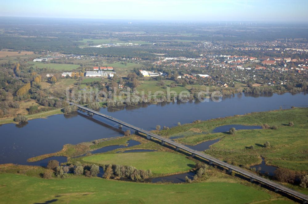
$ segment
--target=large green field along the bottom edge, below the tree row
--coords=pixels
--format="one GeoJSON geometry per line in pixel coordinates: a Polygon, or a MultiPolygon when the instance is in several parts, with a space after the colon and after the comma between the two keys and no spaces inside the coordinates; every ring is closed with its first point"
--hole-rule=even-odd
{"type": "Polygon", "coordinates": [[[48,180],[0,174],[2,203],[293,203],[271,198],[264,190],[229,182],[146,184],[86,177],[48,180]]]}

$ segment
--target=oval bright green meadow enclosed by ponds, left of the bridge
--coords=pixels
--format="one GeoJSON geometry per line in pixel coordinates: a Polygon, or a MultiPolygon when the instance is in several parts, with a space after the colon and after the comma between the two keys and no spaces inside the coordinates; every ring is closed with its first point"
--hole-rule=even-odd
{"type": "Polygon", "coordinates": [[[183,155],[170,152],[100,154],[84,157],[83,160],[98,164],[133,166],[140,170],[151,170],[155,174],[188,171],[195,164],[183,155]]]}

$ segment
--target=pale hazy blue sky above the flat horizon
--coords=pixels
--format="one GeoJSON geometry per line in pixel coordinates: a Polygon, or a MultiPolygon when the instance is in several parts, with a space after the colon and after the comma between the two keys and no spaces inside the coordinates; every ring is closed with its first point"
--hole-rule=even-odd
{"type": "Polygon", "coordinates": [[[0,16],[308,22],[308,0],[1,0],[0,16]]]}

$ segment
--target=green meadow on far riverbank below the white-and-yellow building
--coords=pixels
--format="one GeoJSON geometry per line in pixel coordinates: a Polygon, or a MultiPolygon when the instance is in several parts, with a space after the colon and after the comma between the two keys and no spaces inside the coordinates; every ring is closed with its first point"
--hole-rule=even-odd
{"type": "MultiPolygon", "coordinates": [[[[173,81],[164,80],[165,85],[170,87],[170,84],[173,81]]],[[[167,89],[163,88],[164,86],[157,85],[158,81],[156,80],[145,80],[140,81],[140,85],[137,87],[137,91],[141,92],[144,91],[145,94],[149,94],[149,91],[151,91],[151,95],[153,95],[156,91],[162,91],[164,94],[167,94],[167,89]]],[[[181,91],[187,91],[185,87],[182,85],[178,85],[176,87],[170,88],[170,91],[175,91],[177,94],[179,94],[181,91]]]]}

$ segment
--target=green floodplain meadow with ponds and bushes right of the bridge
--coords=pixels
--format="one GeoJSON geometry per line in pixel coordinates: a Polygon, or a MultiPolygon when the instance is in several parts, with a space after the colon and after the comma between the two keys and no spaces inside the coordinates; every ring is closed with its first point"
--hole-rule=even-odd
{"type": "Polygon", "coordinates": [[[270,112],[251,113],[221,119],[207,120],[196,124],[184,124],[163,130],[166,137],[184,135],[177,141],[197,144],[206,140],[222,138],[211,146],[206,153],[229,163],[241,164],[246,167],[261,163],[261,156],[267,164],[286,167],[293,170],[307,171],[308,167],[308,108],[294,108],[270,112]],[[290,121],[294,127],[290,127],[290,121]],[[228,124],[262,125],[267,123],[274,129],[239,130],[235,135],[227,133],[209,133],[215,127],[228,124]],[[268,141],[271,147],[263,144],[268,141]],[[248,149],[253,146],[254,149],[248,149]]]}

